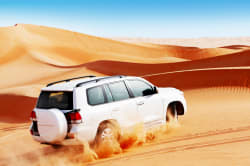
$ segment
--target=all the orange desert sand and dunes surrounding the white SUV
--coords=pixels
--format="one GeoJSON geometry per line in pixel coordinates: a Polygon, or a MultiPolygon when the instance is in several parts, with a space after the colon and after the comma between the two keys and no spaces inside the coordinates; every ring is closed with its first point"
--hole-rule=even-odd
{"type": "Polygon", "coordinates": [[[250,165],[250,44],[214,41],[219,45],[203,39],[187,47],[26,24],[0,28],[0,165],[250,165]],[[33,141],[29,114],[40,88],[89,74],[135,75],[179,88],[188,112],[107,158],[96,158],[87,145],[33,141]]]}

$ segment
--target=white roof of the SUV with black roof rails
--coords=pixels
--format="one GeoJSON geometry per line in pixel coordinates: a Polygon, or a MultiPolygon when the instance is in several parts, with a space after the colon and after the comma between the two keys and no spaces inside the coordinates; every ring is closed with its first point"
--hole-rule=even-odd
{"type": "MultiPolygon", "coordinates": [[[[106,76],[108,77],[108,76],[106,76]]],[[[71,80],[71,81],[67,81],[67,82],[61,82],[61,83],[55,83],[55,84],[48,84],[47,87],[42,88],[43,91],[73,91],[73,89],[80,83],[86,83],[83,84],[81,86],[84,87],[93,87],[93,86],[97,86],[97,85],[101,85],[101,84],[105,84],[105,83],[109,83],[109,82],[113,82],[113,81],[118,81],[118,80],[124,80],[124,79],[128,79],[128,78],[135,78],[135,77],[131,77],[131,76],[122,76],[122,77],[118,77],[118,76],[114,76],[114,77],[110,77],[109,79],[103,79],[106,77],[88,77],[88,78],[82,78],[82,79],[76,79],[76,80],[71,80]],[[98,79],[103,79],[101,81],[94,81],[94,80],[98,80],[98,79]]]]}

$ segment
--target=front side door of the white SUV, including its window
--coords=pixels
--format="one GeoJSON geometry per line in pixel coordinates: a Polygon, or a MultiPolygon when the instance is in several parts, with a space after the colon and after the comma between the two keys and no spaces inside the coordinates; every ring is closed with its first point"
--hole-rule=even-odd
{"type": "Polygon", "coordinates": [[[152,127],[162,123],[163,103],[154,88],[139,79],[126,80],[126,84],[134,95],[137,110],[143,117],[145,127],[152,127]]]}

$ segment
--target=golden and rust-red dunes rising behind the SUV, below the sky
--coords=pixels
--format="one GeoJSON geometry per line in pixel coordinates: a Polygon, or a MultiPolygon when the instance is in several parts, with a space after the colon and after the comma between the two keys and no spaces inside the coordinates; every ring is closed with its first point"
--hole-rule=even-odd
{"type": "MultiPolygon", "coordinates": [[[[0,34],[1,94],[37,97],[51,81],[89,74],[144,76],[156,85],[179,89],[249,86],[247,46],[200,49],[130,44],[22,24],[0,28],[0,34]]],[[[11,105],[12,98],[6,100],[11,105]]]]}

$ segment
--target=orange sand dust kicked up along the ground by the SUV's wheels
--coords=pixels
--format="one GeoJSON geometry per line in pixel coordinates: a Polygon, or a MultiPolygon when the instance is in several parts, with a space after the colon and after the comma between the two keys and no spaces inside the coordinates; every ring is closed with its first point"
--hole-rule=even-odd
{"type": "Polygon", "coordinates": [[[1,160],[0,165],[82,166],[88,162],[126,153],[128,150],[132,151],[133,148],[164,139],[170,130],[178,126],[179,124],[176,121],[145,131],[144,126],[139,124],[123,131],[119,141],[107,139],[96,146],[94,143],[89,144],[83,141],[82,138],[78,138],[77,142],[69,145],[41,144],[41,146],[46,146],[46,148],[21,156],[15,154],[15,149],[26,148],[29,145],[19,144],[18,147],[10,145],[7,151],[8,158],[1,160]]]}

